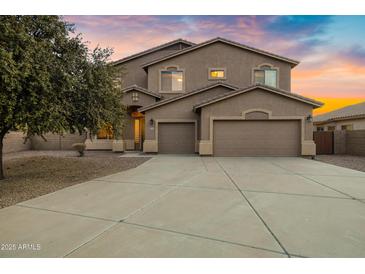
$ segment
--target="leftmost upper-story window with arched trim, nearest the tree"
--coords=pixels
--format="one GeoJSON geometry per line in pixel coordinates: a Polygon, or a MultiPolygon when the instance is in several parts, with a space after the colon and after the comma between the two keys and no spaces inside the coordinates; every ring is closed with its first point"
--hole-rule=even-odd
{"type": "Polygon", "coordinates": [[[184,86],[184,71],[177,67],[168,67],[161,70],[162,92],[182,92],[184,86]]]}

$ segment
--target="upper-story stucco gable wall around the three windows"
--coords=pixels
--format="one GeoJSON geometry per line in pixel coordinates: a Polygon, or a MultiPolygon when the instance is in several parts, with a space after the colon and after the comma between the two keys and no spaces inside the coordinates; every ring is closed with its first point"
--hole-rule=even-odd
{"type": "Polygon", "coordinates": [[[209,68],[226,68],[226,82],[244,88],[253,84],[253,68],[269,63],[279,69],[279,88],[290,91],[291,67],[283,61],[216,42],[148,67],[148,89],[159,90],[160,70],[178,66],[185,71],[185,90],[211,84],[209,68]]]}

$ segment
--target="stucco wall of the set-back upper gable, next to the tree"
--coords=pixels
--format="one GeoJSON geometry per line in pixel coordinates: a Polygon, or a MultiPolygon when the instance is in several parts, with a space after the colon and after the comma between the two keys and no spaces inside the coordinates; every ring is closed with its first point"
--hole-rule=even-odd
{"type": "Polygon", "coordinates": [[[147,73],[143,70],[142,65],[157,58],[171,54],[172,52],[184,47],[187,46],[184,44],[176,44],[117,65],[117,67],[122,68],[123,70],[122,86],[128,87],[131,85],[138,85],[140,87],[147,88],[147,73]]]}

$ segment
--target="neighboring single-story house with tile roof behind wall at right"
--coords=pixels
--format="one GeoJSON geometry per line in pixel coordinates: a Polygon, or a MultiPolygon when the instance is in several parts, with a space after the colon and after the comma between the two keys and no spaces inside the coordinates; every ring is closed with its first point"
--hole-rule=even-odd
{"type": "Polygon", "coordinates": [[[365,102],[315,116],[313,121],[314,131],[365,129],[365,102]]]}

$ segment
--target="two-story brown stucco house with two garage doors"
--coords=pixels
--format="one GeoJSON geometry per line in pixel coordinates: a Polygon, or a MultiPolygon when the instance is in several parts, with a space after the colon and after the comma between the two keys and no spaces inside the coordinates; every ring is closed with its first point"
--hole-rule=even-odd
{"type": "Polygon", "coordinates": [[[114,62],[126,72],[123,140],[96,136],[87,148],[315,155],[312,111],[322,103],[291,92],[298,63],[223,38],[178,39],[123,58],[114,62]]]}

